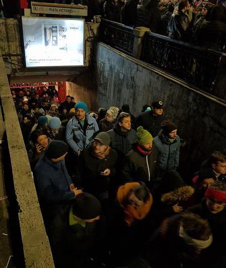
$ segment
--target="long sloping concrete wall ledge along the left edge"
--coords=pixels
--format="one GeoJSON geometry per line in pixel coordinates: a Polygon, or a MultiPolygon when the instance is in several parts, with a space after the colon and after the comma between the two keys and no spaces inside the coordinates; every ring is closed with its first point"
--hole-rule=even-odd
{"type": "MultiPolygon", "coordinates": [[[[53,268],[55,266],[52,252],[39,207],[33,174],[31,172],[28,154],[1,53],[0,97],[13,171],[15,194],[18,207],[20,208],[18,209],[18,218],[23,242],[25,265],[29,268],[53,268]]],[[[8,164],[10,165],[10,163],[8,164]]],[[[8,169],[10,169],[10,166],[8,169]]]]}

